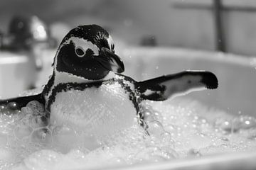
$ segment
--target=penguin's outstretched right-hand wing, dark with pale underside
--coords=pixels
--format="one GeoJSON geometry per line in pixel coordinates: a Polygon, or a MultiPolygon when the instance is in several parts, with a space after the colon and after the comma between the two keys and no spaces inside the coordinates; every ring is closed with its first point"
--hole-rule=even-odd
{"type": "Polygon", "coordinates": [[[186,71],[137,82],[135,88],[145,100],[164,101],[191,91],[216,89],[218,79],[212,72],[186,71]]]}

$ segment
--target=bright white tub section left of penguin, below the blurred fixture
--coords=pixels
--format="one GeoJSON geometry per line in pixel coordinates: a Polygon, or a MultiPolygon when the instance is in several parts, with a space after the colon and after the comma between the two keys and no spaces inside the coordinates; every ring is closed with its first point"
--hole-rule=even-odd
{"type": "Polygon", "coordinates": [[[43,50],[43,67],[37,70],[30,54],[0,51],[0,98],[15,97],[32,86],[46,84],[53,73],[51,63],[54,55],[55,50],[43,50]]]}

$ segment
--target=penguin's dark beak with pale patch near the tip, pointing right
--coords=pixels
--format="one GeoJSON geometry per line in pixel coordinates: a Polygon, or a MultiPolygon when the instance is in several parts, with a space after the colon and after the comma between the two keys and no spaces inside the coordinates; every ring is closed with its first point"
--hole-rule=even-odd
{"type": "Polygon", "coordinates": [[[122,62],[122,59],[106,47],[102,47],[100,56],[97,57],[96,60],[109,71],[117,73],[124,72],[124,63],[122,62]]]}

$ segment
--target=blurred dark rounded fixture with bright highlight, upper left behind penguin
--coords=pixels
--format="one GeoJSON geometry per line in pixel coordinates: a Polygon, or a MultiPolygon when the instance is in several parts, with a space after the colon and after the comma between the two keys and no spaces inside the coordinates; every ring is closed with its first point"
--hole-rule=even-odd
{"type": "Polygon", "coordinates": [[[9,33],[2,36],[2,50],[31,50],[38,43],[56,47],[50,31],[37,16],[14,16],[9,23],[9,33]]]}

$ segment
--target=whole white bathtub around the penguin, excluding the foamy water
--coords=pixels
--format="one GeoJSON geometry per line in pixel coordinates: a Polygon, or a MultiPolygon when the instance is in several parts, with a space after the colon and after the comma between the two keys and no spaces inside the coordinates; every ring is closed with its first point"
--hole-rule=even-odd
{"type": "MultiPolygon", "coordinates": [[[[217,90],[198,91],[188,94],[186,98],[195,98],[207,106],[228,113],[255,115],[256,59],[253,57],[164,47],[129,47],[119,50],[118,54],[124,60],[124,74],[138,81],[187,69],[214,72],[219,80],[217,90]]],[[[0,57],[0,96],[16,96],[31,83],[37,86],[45,84],[52,72],[50,64],[54,55],[53,51],[44,54],[46,57],[43,59],[44,67],[41,72],[36,72],[31,67],[33,64],[25,55],[4,54],[0,57]]],[[[111,169],[256,169],[255,160],[256,153],[241,152],[176,159],[170,162],[116,166],[111,169]]]]}

